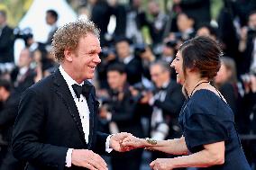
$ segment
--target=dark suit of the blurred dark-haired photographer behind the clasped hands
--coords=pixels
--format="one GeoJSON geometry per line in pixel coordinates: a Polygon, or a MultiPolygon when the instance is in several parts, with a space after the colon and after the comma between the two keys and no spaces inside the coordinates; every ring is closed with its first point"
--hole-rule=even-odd
{"type": "MultiPolygon", "coordinates": [[[[119,95],[120,96],[120,95],[119,95]]],[[[141,113],[138,112],[136,101],[129,90],[129,85],[125,85],[123,92],[111,93],[111,121],[116,123],[119,132],[126,131],[143,138],[141,113]],[[123,95],[123,99],[118,99],[118,94],[123,95]]],[[[113,170],[139,170],[142,162],[142,149],[132,150],[128,153],[116,154],[112,157],[113,170]],[[129,160],[129,161],[127,161],[129,160]]]]}

